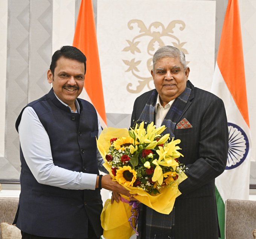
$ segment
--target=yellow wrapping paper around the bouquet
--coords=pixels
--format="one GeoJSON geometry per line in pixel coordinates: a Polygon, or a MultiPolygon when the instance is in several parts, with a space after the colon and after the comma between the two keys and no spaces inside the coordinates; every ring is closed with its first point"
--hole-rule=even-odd
{"type": "MultiPolygon", "coordinates": [[[[101,153],[105,163],[104,166],[108,170],[111,177],[114,179],[114,175],[111,171],[111,166],[107,163],[105,156],[107,150],[110,147],[110,139],[118,137],[129,136],[128,129],[117,129],[113,127],[104,128],[99,139],[97,141],[98,150],[101,153]]],[[[187,176],[181,173],[178,177],[178,182],[174,182],[171,186],[166,186],[160,191],[160,194],[150,195],[143,191],[141,188],[132,186],[124,186],[130,191],[130,194],[140,203],[151,207],[157,212],[163,214],[169,214],[174,206],[175,198],[177,198],[181,192],[178,190],[178,184],[186,179],[187,176]],[[137,194],[137,195],[136,195],[137,194]]],[[[125,196],[122,195],[125,198],[125,196]]],[[[103,236],[105,239],[129,239],[134,234],[133,228],[131,228],[128,218],[131,216],[131,206],[128,203],[120,201],[113,204],[110,203],[110,199],[105,202],[104,208],[101,214],[101,225],[104,229],[103,236]]]]}

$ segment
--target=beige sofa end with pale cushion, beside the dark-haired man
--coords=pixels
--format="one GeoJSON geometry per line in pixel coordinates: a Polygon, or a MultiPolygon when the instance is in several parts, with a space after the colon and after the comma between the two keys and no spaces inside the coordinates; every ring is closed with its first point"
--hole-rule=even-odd
{"type": "Polygon", "coordinates": [[[18,208],[18,198],[0,197],[0,239],[20,239],[20,229],[12,225],[18,208]]]}

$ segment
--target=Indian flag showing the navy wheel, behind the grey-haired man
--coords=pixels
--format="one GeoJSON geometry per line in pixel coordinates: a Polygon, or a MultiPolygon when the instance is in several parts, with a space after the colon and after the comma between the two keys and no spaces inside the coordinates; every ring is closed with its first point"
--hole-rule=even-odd
{"type": "Polygon", "coordinates": [[[251,141],[238,0],[228,2],[211,91],[224,101],[229,126],[227,166],[215,180],[223,239],[225,201],[249,197],[251,141]]]}

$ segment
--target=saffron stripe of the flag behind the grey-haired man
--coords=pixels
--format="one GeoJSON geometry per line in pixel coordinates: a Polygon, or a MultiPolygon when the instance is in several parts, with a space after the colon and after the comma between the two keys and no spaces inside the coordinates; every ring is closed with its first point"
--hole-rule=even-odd
{"type": "Polygon", "coordinates": [[[230,94],[249,126],[238,0],[229,0],[219,43],[217,62],[230,94]]]}

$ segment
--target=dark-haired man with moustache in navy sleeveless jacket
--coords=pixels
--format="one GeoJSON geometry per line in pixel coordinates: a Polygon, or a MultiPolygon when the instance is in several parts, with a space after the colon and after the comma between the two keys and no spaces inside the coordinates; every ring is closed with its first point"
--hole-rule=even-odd
{"type": "Polygon", "coordinates": [[[102,163],[101,132],[93,105],[77,98],[84,87],[86,57],[64,46],[52,56],[48,94],[21,111],[21,193],[15,218],[24,239],[98,239],[102,235],[100,189],[129,196],[102,163]]]}

